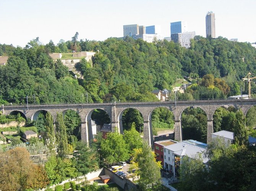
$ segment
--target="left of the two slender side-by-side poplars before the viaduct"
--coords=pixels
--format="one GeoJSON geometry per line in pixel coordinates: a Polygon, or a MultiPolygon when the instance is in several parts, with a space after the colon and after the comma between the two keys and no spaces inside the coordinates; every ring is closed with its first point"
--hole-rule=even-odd
{"type": "Polygon", "coordinates": [[[44,136],[44,144],[47,146],[51,154],[55,154],[56,149],[56,137],[53,126],[53,117],[47,112],[45,115],[45,136],[44,136]]]}

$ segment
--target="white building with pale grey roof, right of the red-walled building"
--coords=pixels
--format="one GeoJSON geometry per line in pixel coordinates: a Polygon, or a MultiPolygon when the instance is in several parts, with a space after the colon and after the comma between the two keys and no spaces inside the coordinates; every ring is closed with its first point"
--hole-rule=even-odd
{"type": "Polygon", "coordinates": [[[173,145],[164,146],[164,168],[169,169],[169,172],[173,173],[176,177],[178,175],[178,169],[182,164],[182,158],[187,156],[191,159],[195,159],[196,155],[199,153],[202,153],[203,164],[208,167],[208,159],[203,155],[206,148],[207,144],[195,140],[186,140],[173,145]]]}

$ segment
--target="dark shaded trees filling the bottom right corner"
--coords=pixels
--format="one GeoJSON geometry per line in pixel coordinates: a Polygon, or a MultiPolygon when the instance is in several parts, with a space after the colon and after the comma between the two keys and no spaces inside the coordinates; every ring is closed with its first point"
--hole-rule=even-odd
{"type": "Polygon", "coordinates": [[[256,151],[245,145],[227,145],[214,139],[204,153],[209,159],[206,170],[200,158],[184,158],[180,166],[181,190],[254,190],[256,151]]]}

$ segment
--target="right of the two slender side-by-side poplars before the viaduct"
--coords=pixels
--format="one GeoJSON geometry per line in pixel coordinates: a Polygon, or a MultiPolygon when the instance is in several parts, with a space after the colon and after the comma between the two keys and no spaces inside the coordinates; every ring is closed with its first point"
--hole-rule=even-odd
{"type": "Polygon", "coordinates": [[[68,154],[68,137],[66,134],[66,126],[62,113],[57,113],[56,119],[56,140],[57,140],[57,152],[61,158],[65,158],[68,154]]]}

